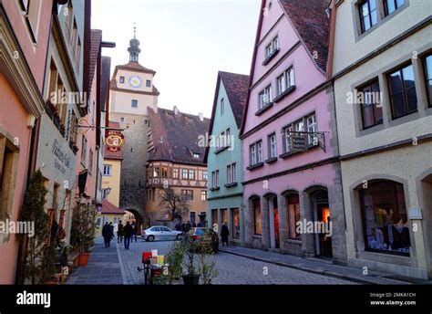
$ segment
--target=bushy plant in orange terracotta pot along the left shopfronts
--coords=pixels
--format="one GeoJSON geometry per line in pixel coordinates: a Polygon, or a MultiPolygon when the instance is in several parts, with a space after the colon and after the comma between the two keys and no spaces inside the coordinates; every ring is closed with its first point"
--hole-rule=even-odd
{"type": "Polygon", "coordinates": [[[77,247],[78,265],[86,266],[90,248],[94,246],[96,228],[96,209],[94,205],[83,204],[79,200],[74,211],[70,243],[77,247]]]}

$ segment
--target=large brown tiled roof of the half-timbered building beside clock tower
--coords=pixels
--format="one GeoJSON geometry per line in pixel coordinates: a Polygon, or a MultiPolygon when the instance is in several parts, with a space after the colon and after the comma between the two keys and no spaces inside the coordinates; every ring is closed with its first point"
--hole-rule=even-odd
{"type": "Polygon", "coordinates": [[[169,161],[203,165],[203,145],[200,136],[209,130],[210,120],[199,116],[159,108],[157,112],[149,108],[149,128],[154,149],[149,153],[149,162],[169,161]],[[202,146],[202,147],[201,147],[202,146]],[[193,158],[199,153],[200,158],[193,158]]]}

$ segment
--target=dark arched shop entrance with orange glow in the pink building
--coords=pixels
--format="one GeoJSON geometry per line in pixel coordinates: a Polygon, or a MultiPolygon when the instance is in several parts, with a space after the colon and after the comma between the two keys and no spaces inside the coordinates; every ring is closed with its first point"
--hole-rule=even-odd
{"type": "Polygon", "coordinates": [[[332,223],[331,210],[328,204],[327,191],[320,191],[313,195],[314,226],[315,227],[315,255],[332,258],[332,223]]]}

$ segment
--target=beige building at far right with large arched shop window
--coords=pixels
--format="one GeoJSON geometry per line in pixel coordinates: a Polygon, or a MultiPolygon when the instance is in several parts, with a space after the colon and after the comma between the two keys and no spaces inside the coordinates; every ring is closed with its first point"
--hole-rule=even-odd
{"type": "Polygon", "coordinates": [[[432,2],[334,3],[348,265],[431,278],[432,2]]]}

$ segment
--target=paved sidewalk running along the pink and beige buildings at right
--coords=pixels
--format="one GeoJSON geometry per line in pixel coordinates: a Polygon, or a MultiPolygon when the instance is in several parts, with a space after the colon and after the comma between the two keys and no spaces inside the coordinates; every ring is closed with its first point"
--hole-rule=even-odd
{"type": "Polygon", "coordinates": [[[362,284],[407,285],[412,283],[427,283],[427,281],[416,279],[396,278],[393,275],[375,271],[368,271],[368,275],[363,275],[363,269],[360,268],[333,265],[326,261],[319,261],[317,258],[310,259],[299,256],[283,255],[276,252],[262,251],[242,246],[220,246],[220,251],[283,267],[292,267],[314,274],[336,277],[362,284]]]}

